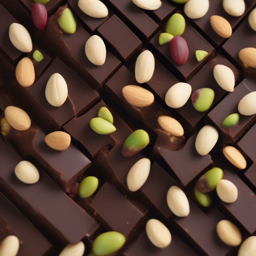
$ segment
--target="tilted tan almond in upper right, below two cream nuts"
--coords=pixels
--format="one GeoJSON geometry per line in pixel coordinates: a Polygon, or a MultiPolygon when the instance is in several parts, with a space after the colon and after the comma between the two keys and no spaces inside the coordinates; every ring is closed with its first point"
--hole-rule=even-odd
{"type": "Polygon", "coordinates": [[[229,24],[229,22],[218,15],[213,15],[210,18],[210,23],[213,28],[213,30],[223,38],[228,38],[232,35],[232,28],[229,24]]]}

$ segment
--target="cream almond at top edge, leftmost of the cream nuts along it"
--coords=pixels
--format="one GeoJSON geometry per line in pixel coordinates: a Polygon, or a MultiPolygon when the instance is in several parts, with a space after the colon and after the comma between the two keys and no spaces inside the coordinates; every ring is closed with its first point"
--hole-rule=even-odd
{"type": "Polygon", "coordinates": [[[78,7],[93,18],[104,18],[109,14],[108,8],[99,0],[79,0],[78,7]]]}

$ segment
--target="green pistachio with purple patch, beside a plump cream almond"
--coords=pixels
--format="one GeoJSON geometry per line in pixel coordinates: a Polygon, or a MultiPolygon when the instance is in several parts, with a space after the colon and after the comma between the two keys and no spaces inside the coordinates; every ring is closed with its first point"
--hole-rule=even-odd
{"type": "Polygon", "coordinates": [[[214,96],[214,90],[211,88],[201,88],[193,92],[191,101],[197,111],[204,112],[211,107],[214,96]]]}

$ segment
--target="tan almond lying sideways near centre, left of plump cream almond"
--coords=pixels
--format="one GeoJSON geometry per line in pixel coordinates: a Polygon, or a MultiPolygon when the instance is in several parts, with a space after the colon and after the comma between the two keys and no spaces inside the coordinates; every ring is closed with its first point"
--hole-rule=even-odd
{"type": "Polygon", "coordinates": [[[127,102],[138,108],[149,106],[154,102],[153,93],[141,86],[127,85],[122,89],[122,93],[127,102]]]}

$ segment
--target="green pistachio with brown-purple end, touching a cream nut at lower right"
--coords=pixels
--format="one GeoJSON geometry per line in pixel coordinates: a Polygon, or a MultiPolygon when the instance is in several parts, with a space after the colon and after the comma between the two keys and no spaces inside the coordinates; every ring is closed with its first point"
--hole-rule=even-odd
{"type": "Polygon", "coordinates": [[[203,193],[208,193],[216,188],[222,176],[223,171],[218,167],[214,167],[198,179],[196,188],[203,193]]]}

